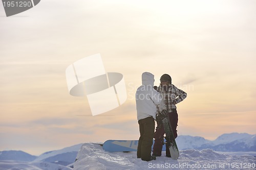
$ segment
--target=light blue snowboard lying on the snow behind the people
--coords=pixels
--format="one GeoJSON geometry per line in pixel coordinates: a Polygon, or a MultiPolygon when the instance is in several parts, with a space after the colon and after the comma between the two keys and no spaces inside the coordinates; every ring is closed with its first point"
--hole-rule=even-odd
{"type": "MultiPolygon", "coordinates": [[[[106,140],[102,147],[103,150],[108,152],[132,152],[137,151],[138,143],[138,140],[106,140]]],[[[153,140],[152,151],[154,143],[155,140],[153,140]]],[[[163,151],[165,151],[165,148],[163,148],[163,151]]]]}

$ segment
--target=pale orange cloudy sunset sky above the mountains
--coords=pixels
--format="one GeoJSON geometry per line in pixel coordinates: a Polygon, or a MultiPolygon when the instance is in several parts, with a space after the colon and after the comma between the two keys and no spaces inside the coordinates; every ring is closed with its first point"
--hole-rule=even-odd
{"type": "Polygon", "coordinates": [[[157,86],[169,74],[187,92],[178,135],[256,134],[255,8],[252,0],[42,0],[6,17],[0,4],[0,151],[138,139],[144,71],[157,86]],[[96,116],[86,96],[69,94],[65,75],[94,54],[123,75],[127,92],[124,104],[96,116]]]}

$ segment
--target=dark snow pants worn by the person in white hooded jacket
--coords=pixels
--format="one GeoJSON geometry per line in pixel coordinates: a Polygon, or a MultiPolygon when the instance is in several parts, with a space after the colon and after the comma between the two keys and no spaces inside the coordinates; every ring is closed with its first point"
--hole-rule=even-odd
{"type": "Polygon", "coordinates": [[[151,160],[151,149],[155,131],[155,119],[150,116],[138,121],[140,129],[140,138],[137,148],[137,158],[144,161],[151,160]]]}

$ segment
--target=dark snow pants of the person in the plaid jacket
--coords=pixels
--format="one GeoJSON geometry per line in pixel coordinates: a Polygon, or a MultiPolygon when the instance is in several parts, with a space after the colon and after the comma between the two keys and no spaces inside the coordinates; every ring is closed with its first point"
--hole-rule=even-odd
{"type": "MultiPolygon", "coordinates": [[[[176,109],[172,109],[172,112],[168,113],[170,125],[172,126],[174,137],[178,136],[177,126],[178,126],[178,113],[176,109]]],[[[155,143],[153,147],[153,154],[161,155],[163,148],[163,135],[165,134],[162,122],[157,122],[156,132],[154,134],[155,143]]],[[[166,155],[170,155],[168,150],[169,145],[166,144],[166,155]]]]}

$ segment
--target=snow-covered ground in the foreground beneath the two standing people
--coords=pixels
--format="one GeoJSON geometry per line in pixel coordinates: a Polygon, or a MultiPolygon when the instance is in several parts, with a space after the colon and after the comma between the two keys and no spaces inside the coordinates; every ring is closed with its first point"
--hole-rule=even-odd
{"type": "Polygon", "coordinates": [[[74,170],[104,169],[256,169],[256,158],[251,155],[227,155],[210,149],[180,151],[178,160],[161,157],[142,161],[136,152],[105,152],[99,144],[84,143],[77,154],[74,170]]]}

